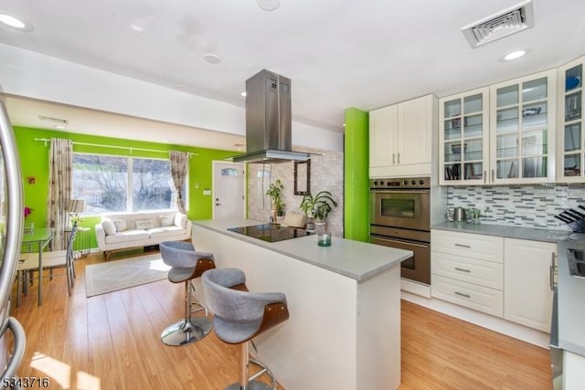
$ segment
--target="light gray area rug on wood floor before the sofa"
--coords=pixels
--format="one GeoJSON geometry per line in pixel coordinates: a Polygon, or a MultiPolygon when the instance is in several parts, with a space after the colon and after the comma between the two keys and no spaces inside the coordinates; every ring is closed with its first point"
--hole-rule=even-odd
{"type": "Polygon", "coordinates": [[[90,298],[166,279],[169,269],[160,253],[92,264],[85,268],[85,295],[90,298]]]}

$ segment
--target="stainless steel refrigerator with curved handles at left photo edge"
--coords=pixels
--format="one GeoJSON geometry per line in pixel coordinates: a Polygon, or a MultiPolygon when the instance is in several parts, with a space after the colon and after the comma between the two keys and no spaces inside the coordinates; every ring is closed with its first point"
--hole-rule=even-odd
{"type": "Polygon", "coordinates": [[[10,317],[10,293],[20,256],[23,219],[22,179],[16,142],[0,95],[0,367],[3,370],[2,383],[7,378],[8,385],[14,384],[11,378],[16,375],[26,346],[23,327],[10,317]]]}

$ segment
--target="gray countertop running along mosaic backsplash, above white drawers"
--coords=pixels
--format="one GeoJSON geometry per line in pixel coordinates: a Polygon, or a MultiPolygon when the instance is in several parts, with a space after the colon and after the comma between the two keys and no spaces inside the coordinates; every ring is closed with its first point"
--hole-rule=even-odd
{"type": "Polygon", "coordinates": [[[537,227],[512,227],[508,225],[469,224],[467,222],[444,221],[435,224],[431,229],[450,230],[461,233],[482,234],[485,236],[528,239],[532,241],[558,242],[569,237],[569,230],[547,229],[537,227]]]}

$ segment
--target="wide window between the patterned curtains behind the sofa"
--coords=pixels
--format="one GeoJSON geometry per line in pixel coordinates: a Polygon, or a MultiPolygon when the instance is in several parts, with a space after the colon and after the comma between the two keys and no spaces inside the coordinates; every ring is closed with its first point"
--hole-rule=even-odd
{"type": "Polygon", "coordinates": [[[73,153],[72,197],[85,199],[92,214],[175,208],[171,163],[73,153]]]}

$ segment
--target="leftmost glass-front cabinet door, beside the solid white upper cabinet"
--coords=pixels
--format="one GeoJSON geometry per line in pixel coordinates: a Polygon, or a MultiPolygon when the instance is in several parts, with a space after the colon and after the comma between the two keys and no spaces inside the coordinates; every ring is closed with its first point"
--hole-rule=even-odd
{"type": "Polygon", "coordinates": [[[439,100],[440,184],[486,184],[489,88],[439,100]]]}

